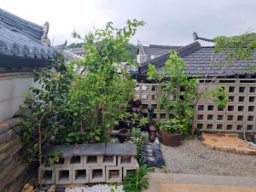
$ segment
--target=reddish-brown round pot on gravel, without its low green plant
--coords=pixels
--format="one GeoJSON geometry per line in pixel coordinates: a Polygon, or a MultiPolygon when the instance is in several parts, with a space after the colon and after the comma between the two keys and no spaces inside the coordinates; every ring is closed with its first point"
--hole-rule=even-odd
{"type": "Polygon", "coordinates": [[[182,135],[181,133],[178,134],[172,134],[160,131],[160,143],[163,143],[167,146],[177,147],[181,144],[182,135]]]}

